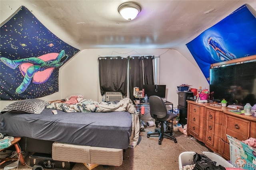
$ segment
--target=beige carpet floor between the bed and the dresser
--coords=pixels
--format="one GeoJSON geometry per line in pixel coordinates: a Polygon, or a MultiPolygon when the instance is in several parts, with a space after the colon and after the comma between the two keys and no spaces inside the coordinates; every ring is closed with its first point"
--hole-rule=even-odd
{"type": "MultiPolygon", "coordinates": [[[[152,136],[147,138],[147,132],[154,131],[155,128],[147,127],[144,129],[144,132],[140,133],[138,145],[134,149],[126,149],[126,158],[121,166],[103,167],[99,165],[93,168],[93,170],[178,170],[178,156],[180,153],[184,151],[194,151],[197,153],[202,153],[203,151],[211,152],[204,144],[191,140],[191,136],[187,137],[179,131],[174,134],[178,143],[174,143],[170,139],[163,139],[162,145],[158,145],[158,137],[152,136]]],[[[32,170],[32,167],[29,167],[29,156],[25,160],[28,166],[19,164],[18,170],[32,170]]],[[[10,163],[12,162],[4,163],[1,166],[1,170],[10,163]]],[[[46,168],[44,169],[46,170],[46,168]]],[[[81,163],[76,163],[72,170],[88,170],[88,168],[81,163]]]]}

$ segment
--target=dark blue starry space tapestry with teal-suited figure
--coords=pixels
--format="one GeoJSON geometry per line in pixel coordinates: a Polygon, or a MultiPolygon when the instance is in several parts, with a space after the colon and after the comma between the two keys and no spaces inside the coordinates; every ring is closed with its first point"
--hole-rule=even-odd
{"type": "Polygon", "coordinates": [[[58,92],[59,68],[78,49],[56,37],[24,6],[1,23],[0,36],[0,100],[58,92]]]}

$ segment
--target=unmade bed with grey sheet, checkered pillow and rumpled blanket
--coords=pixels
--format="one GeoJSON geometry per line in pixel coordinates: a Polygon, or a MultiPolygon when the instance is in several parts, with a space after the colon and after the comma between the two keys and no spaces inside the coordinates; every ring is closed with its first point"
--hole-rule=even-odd
{"type": "Polygon", "coordinates": [[[50,152],[54,160],[120,166],[124,150],[136,147],[139,138],[140,123],[132,101],[67,101],[14,102],[1,111],[1,133],[22,137],[22,150],[50,152]],[[28,109],[38,105],[39,109],[28,109]]]}

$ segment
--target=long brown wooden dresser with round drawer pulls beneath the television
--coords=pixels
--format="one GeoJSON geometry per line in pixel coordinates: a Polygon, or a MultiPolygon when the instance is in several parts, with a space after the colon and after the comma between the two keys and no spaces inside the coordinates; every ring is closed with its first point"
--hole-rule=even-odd
{"type": "Polygon", "coordinates": [[[230,160],[226,134],[240,141],[256,138],[256,118],[230,112],[228,107],[188,100],[187,132],[206,147],[230,160]]]}

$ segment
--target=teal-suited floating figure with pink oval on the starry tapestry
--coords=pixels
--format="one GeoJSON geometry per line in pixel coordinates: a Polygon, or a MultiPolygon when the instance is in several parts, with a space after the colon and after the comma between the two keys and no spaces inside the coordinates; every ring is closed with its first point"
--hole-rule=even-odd
{"type": "Polygon", "coordinates": [[[59,54],[49,53],[39,57],[29,57],[18,60],[10,60],[5,57],[0,58],[4,64],[12,69],[16,69],[16,67],[19,66],[24,79],[20,86],[16,88],[16,93],[18,94],[26,90],[32,79],[35,84],[46,82],[50,78],[54,68],[62,66],[66,59],[68,59],[68,55],[65,55],[64,50],[59,54]]]}

